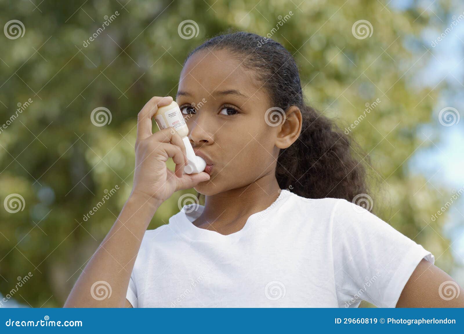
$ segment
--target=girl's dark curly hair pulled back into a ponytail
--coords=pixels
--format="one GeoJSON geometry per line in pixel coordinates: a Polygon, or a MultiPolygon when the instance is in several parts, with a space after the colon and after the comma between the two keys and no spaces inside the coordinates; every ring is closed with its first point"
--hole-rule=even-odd
{"type": "Polygon", "coordinates": [[[344,198],[349,202],[367,193],[365,167],[353,157],[353,147],[359,146],[333,120],[305,104],[296,62],[284,46],[257,34],[233,32],[208,39],[185,62],[204,49],[228,50],[242,66],[254,70],[272,106],[284,111],[291,106],[300,108],[301,134],[290,147],[280,150],[277,159],[281,189],[306,198],[344,198]]]}

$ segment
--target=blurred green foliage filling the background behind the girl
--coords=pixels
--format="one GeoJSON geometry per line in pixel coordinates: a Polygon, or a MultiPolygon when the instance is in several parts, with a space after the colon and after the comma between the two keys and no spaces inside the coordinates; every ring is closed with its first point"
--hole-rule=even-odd
{"type": "MultiPolygon", "coordinates": [[[[25,26],[23,37],[0,36],[0,125],[18,103],[32,99],[0,133],[0,200],[13,193],[25,200],[17,213],[0,209],[3,295],[31,271],[14,298],[34,307],[62,306],[131,191],[138,111],[154,95],[175,95],[181,64],[205,38],[229,28],[266,35],[290,11],[272,38],[295,54],[311,105],[345,128],[366,103],[381,101],[352,131],[379,180],[372,183],[376,214],[434,253],[445,271],[455,266],[440,236],[445,216],[430,220],[446,198],[407,164],[419,146],[437,140],[418,129],[431,122],[444,83],[432,92],[414,84],[432,57],[420,33],[439,29],[430,11],[400,11],[371,0],[299,6],[290,0],[32,2],[0,2],[2,27],[12,19],[25,26]],[[116,12],[84,47],[105,15],[116,12]],[[198,36],[180,38],[178,26],[186,19],[198,24],[198,36]],[[372,24],[371,37],[354,38],[352,25],[360,19],[372,24]],[[92,124],[97,107],[110,110],[109,124],[92,124]],[[116,185],[119,190],[84,221],[105,189],[116,185]]],[[[446,15],[445,1],[436,6],[446,15]]],[[[150,228],[178,212],[180,195],[161,206],[150,228]]]]}

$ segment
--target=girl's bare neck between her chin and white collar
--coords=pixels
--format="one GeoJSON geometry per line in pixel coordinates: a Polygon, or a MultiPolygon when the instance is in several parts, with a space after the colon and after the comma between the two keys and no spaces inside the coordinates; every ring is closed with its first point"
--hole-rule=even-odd
{"type": "Polygon", "coordinates": [[[221,234],[237,232],[251,214],[269,208],[277,200],[279,189],[275,175],[266,174],[244,187],[206,196],[205,208],[193,224],[221,234]]]}

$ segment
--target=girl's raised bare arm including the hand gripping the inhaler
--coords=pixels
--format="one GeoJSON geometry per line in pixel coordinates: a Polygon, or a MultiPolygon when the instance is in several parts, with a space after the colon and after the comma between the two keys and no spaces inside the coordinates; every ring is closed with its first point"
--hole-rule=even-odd
{"type": "Polygon", "coordinates": [[[183,174],[187,162],[185,146],[173,127],[152,133],[151,118],[158,107],[171,102],[171,97],[153,97],[138,114],[131,195],[77,279],[64,307],[127,306],[130,275],[143,235],[156,210],[174,191],[209,180],[205,172],[183,174]],[[166,166],[168,158],[176,164],[174,172],[166,166]],[[102,292],[105,292],[104,298],[102,292]]]}

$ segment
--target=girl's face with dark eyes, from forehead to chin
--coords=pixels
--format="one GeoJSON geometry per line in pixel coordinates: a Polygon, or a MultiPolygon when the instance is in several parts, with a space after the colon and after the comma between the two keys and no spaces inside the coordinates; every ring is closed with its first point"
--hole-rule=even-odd
{"type": "Polygon", "coordinates": [[[190,142],[197,155],[213,164],[210,180],[195,187],[204,195],[275,177],[280,126],[265,122],[272,107],[269,96],[255,73],[240,63],[227,50],[200,50],[180,74],[176,102],[190,142]]]}

